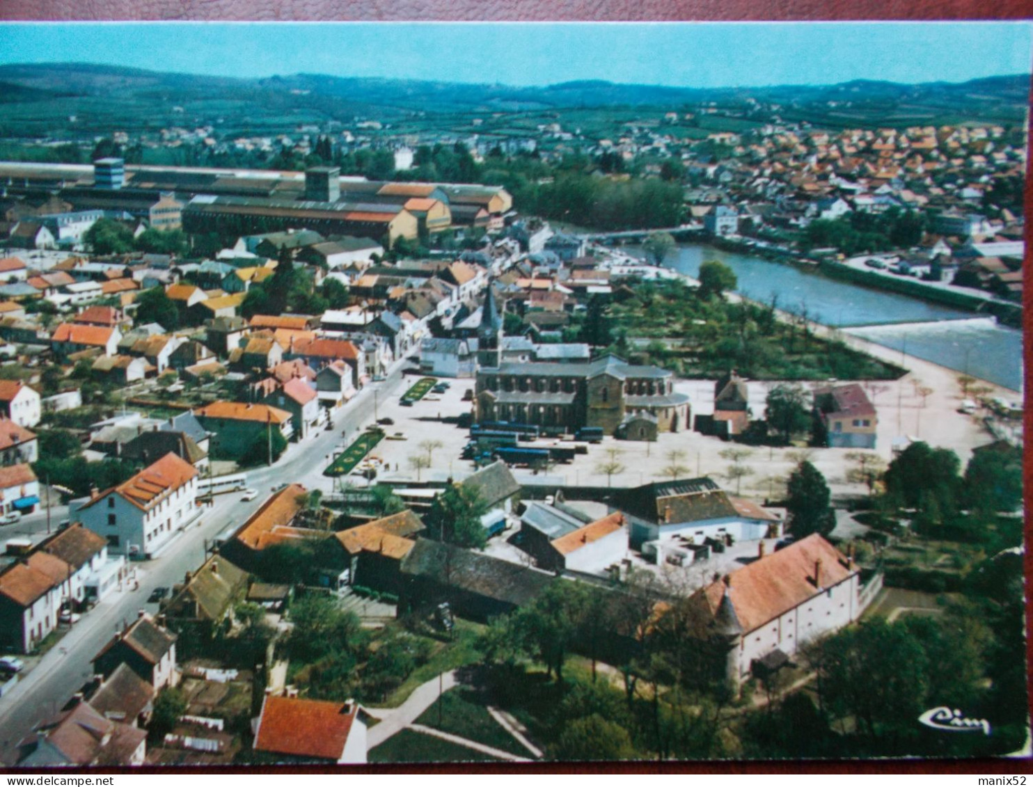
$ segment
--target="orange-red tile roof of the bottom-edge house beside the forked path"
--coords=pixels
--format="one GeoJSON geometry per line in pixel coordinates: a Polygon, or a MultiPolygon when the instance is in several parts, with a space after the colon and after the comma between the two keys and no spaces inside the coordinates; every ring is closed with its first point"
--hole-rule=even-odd
{"type": "Polygon", "coordinates": [[[265,697],[255,751],[340,760],[358,706],[299,697],[265,697]]]}

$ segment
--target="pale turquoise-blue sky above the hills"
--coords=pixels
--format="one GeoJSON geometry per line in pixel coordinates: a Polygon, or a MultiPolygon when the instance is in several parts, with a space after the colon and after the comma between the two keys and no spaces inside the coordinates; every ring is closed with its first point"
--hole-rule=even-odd
{"type": "Polygon", "coordinates": [[[0,63],[687,87],[1028,73],[1033,23],[0,24],[0,63]]]}

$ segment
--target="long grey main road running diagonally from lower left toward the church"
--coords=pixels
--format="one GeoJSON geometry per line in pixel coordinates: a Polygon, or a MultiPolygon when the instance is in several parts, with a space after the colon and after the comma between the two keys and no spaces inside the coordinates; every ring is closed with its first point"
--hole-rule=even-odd
{"type": "MultiPolygon", "coordinates": [[[[402,368],[408,358],[396,363],[381,382],[363,388],[333,416],[333,430],[323,430],[303,443],[291,443],[272,467],[249,471],[248,485],[258,490],[258,498],[244,502],[238,494],[216,498],[199,520],[179,534],[153,560],[133,563],[138,588],[111,594],[52,648],[24,678],[0,697],[0,761],[13,764],[19,757],[18,744],[42,721],[60,711],[64,703],[89,680],[94,656],[118,631],[134,620],[139,610],[154,611],[157,604],[147,598],[155,588],[169,588],[183,580],[187,571],[196,569],[206,559],[206,547],[230,526],[239,526],[261,505],[273,487],[282,483],[304,483],[328,489],[322,475],[334,447],[350,439],[371,422],[379,401],[399,387],[402,368]],[[345,432],[348,438],[342,437],[345,432]]],[[[62,511],[62,513],[64,513],[62,511]]],[[[52,521],[56,514],[51,511],[52,521]]],[[[26,523],[38,534],[45,520],[26,523]]],[[[58,520],[60,522],[60,520],[58,520]]],[[[21,530],[21,529],[20,529],[21,530]]],[[[36,540],[36,539],[33,539],[36,540]]],[[[128,583],[126,585],[129,585],[128,583]]]]}

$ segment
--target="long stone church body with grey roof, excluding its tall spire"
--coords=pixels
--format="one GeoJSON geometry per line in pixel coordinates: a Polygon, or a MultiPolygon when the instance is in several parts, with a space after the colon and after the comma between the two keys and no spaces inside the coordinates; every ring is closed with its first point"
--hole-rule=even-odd
{"type": "MultiPolygon", "coordinates": [[[[483,339],[481,340],[483,342],[483,339]]],[[[481,363],[487,348],[481,345],[481,363]]],[[[674,374],[606,355],[590,364],[499,364],[477,372],[477,420],[544,428],[598,427],[612,435],[629,414],[648,413],[657,431],[689,424],[689,398],[674,389],[674,374]]]]}

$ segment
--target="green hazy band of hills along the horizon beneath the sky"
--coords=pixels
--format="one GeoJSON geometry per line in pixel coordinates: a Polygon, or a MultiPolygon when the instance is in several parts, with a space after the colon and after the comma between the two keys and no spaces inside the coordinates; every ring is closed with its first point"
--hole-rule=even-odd
{"type": "Polygon", "coordinates": [[[784,105],[785,119],[832,127],[1022,122],[1029,86],[1028,74],[1014,74],[920,85],[858,80],[825,86],[696,89],[583,80],[512,87],[310,73],[233,78],[92,63],[9,64],[0,65],[0,105],[7,107],[0,112],[0,136],[72,132],[59,122],[71,114],[79,119],[80,131],[104,132],[113,125],[153,129],[175,120],[173,107],[186,107],[183,122],[224,121],[234,131],[269,132],[292,123],[353,117],[390,122],[425,114],[460,117],[618,107],[677,111],[700,102],[747,111],[749,98],[784,105]],[[17,104],[29,102],[34,104],[31,113],[13,112],[17,104]]]}

